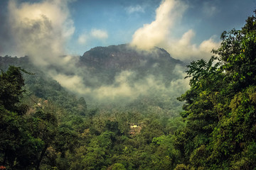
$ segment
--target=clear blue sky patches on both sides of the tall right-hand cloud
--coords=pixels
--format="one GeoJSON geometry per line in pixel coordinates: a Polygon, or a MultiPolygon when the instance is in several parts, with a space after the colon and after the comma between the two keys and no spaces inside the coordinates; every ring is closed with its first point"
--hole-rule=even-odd
{"type": "MultiPolygon", "coordinates": [[[[182,34],[188,29],[195,29],[198,33],[196,42],[206,40],[212,35],[220,35],[223,30],[242,27],[247,16],[251,16],[256,9],[255,0],[192,0],[185,2],[188,4],[188,8],[183,14],[181,23],[178,23],[176,31],[182,34]],[[204,11],[207,6],[213,8],[208,14],[204,11]]],[[[70,4],[70,11],[77,28],[75,35],[81,31],[99,28],[107,30],[110,35],[106,45],[129,42],[138,28],[154,21],[159,4],[161,4],[159,0],[75,1],[70,4]],[[137,6],[141,8],[129,12],[129,8],[137,6]]],[[[102,45],[104,45],[103,42],[102,45]]]]}

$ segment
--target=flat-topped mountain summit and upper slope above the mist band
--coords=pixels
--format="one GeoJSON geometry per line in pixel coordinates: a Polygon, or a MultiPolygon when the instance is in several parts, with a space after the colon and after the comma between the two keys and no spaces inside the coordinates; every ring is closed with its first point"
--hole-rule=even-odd
{"type": "Polygon", "coordinates": [[[114,77],[124,71],[133,72],[134,76],[129,77],[133,81],[152,75],[158,80],[164,79],[167,84],[176,79],[173,74],[176,65],[185,66],[159,47],[148,52],[136,50],[127,44],[92,48],[80,57],[79,64],[87,67],[90,74],[100,77],[101,83],[105,84],[112,84],[114,77]]]}

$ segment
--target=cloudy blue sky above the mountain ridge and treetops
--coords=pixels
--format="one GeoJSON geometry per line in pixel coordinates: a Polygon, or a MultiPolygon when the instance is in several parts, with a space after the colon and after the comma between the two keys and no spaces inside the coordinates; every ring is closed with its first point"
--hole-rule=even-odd
{"type": "Polygon", "coordinates": [[[2,56],[130,43],[191,61],[210,57],[224,30],[240,29],[256,0],[1,0],[0,8],[2,56]]]}

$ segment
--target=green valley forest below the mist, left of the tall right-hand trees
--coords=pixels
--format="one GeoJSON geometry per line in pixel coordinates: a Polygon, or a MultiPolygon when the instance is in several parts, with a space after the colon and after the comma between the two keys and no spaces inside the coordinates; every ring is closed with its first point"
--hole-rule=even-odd
{"type": "Polygon", "coordinates": [[[16,75],[20,84],[8,83],[9,77],[1,82],[17,101],[9,100],[8,105],[15,106],[9,111],[1,100],[0,164],[7,168],[174,169],[178,162],[180,154],[171,134],[183,122],[154,106],[158,99],[141,101],[139,107],[133,103],[87,111],[84,98],[68,94],[41,72],[16,75]],[[20,91],[11,88],[14,85],[20,91]],[[28,109],[22,110],[25,104],[28,109]],[[133,123],[139,126],[135,135],[129,133],[133,123]]]}

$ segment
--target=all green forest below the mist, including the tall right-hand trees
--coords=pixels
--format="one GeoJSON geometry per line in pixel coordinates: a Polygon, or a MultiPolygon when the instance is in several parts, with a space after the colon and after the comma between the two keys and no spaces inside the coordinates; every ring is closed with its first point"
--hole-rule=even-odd
{"type": "Polygon", "coordinates": [[[3,66],[0,169],[254,169],[256,17],[221,40],[188,65],[181,116],[159,98],[93,108],[39,69],[3,66]]]}

